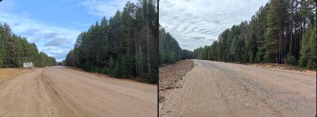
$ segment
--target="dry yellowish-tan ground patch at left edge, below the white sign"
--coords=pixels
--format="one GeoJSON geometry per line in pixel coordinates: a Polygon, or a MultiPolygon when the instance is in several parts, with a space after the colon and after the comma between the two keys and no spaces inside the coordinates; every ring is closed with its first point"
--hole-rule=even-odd
{"type": "Polygon", "coordinates": [[[0,81],[6,80],[7,78],[12,78],[15,76],[19,76],[19,74],[23,74],[28,72],[30,69],[22,69],[22,68],[1,68],[0,69],[0,81]]]}

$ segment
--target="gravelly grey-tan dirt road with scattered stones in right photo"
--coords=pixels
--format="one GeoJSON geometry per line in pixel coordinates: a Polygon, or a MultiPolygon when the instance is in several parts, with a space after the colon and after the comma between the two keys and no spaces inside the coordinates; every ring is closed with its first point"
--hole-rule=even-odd
{"type": "Polygon", "coordinates": [[[316,75],[193,60],[160,116],[315,116],[316,75]]]}

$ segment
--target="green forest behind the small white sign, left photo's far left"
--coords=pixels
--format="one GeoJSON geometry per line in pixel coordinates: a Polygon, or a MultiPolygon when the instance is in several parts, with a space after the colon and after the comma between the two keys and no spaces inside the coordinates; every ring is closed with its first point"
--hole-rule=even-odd
{"type": "Polygon", "coordinates": [[[0,68],[23,67],[23,62],[30,61],[35,67],[57,65],[55,58],[39,52],[35,43],[12,33],[7,23],[0,23],[0,68]]]}

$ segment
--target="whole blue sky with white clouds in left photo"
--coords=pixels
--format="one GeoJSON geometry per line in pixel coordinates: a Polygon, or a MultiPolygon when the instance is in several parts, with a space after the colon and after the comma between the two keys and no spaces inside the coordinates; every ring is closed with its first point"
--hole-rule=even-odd
{"type": "MultiPolygon", "coordinates": [[[[109,19],[122,11],[129,0],[3,0],[0,22],[8,23],[13,33],[35,43],[39,52],[58,62],[73,49],[80,32],[102,17],[109,19]]],[[[137,3],[137,0],[130,0],[137,3]]]]}

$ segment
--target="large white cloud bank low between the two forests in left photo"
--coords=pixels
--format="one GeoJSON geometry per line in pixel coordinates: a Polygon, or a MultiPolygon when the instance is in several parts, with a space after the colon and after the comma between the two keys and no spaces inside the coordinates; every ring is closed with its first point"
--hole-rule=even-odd
{"type": "Polygon", "coordinates": [[[0,12],[0,22],[8,23],[13,33],[26,37],[30,43],[35,42],[39,51],[55,57],[57,61],[66,58],[67,52],[73,48],[80,31],[29,19],[26,17],[29,15],[32,14],[0,12]]]}

